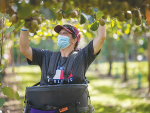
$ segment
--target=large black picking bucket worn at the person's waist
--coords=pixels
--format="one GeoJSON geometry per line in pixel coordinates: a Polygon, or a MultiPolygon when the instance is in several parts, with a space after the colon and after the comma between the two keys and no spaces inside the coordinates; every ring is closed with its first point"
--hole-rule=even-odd
{"type": "Polygon", "coordinates": [[[60,107],[78,100],[79,111],[88,110],[87,86],[87,84],[60,84],[27,87],[26,100],[36,108],[42,108],[44,105],[60,107]]]}

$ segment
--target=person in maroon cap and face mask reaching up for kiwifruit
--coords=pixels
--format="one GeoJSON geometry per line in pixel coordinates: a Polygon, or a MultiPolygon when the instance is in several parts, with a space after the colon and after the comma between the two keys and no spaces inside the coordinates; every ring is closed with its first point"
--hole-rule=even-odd
{"type": "MultiPolygon", "coordinates": [[[[29,46],[29,30],[22,28],[20,33],[20,51],[27,58],[29,65],[39,65],[41,68],[40,85],[49,85],[50,80],[47,76],[49,65],[57,65],[52,84],[61,84],[64,77],[64,69],[67,59],[72,52],[77,50],[80,43],[80,33],[78,29],[72,25],[57,25],[54,31],[58,33],[57,45],[60,48],[60,57],[57,64],[51,64],[51,57],[54,52],[50,50],[38,49],[29,46]]],[[[68,84],[86,83],[85,73],[100,53],[101,47],[106,38],[106,27],[99,25],[97,36],[83,49],[79,50],[73,60],[71,73],[67,77],[68,84]]]]}

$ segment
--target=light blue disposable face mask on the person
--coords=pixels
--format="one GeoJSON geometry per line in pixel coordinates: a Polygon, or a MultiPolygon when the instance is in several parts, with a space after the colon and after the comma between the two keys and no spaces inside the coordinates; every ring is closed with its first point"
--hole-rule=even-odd
{"type": "Polygon", "coordinates": [[[66,47],[68,47],[70,45],[69,37],[63,36],[63,35],[58,35],[57,45],[59,46],[60,49],[65,49],[66,47]]]}

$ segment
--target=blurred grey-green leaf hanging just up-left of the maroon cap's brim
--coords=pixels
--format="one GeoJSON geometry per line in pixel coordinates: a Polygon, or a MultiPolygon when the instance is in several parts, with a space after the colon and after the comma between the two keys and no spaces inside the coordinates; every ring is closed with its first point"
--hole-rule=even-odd
{"type": "Polygon", "coordinates": [[[40,7],[40,12],[44,14],[46,18],[56,20],[55,12],[52,9],[40,7]]]}

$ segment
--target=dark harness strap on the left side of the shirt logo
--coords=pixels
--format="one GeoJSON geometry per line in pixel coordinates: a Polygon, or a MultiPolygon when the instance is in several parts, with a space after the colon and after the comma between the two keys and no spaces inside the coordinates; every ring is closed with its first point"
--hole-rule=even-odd
{"type": "Polygon", "coordinates": [[[54,75],[56,74],[56,68],[58,65],[59,58],[60,58],[60,52],[53,52],[53,54],[50,58],[49,67],[48,67],[48,71],[47,71],[47,75],[50,78],[53,78],[54,75]]]}

